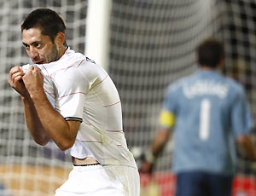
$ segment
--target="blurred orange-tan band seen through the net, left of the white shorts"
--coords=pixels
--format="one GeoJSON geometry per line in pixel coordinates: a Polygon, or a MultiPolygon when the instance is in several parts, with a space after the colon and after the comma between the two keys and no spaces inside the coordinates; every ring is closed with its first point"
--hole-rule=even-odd
{"type": "Polygon", "coordinates": [[[0,164],[0,179],[12,196],[50,196],[71,169],[32,164],[0,164]]]}

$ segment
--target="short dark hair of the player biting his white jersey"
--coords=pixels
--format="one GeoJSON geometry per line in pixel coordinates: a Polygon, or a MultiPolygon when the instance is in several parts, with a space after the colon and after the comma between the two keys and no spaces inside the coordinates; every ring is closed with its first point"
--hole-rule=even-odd
{"type": "MultiPolygon", "coordinates": [[[[61,15],[51,9],[35,9],[28,14],[21,24],[21,32],[30,28],[39,28],[42,35],[49,36],[53,43],[57,33],[63,32],[65,34],[66,30],[61,15]]],[[[64,44],[66,45],[66,41],[64,44]]]]}

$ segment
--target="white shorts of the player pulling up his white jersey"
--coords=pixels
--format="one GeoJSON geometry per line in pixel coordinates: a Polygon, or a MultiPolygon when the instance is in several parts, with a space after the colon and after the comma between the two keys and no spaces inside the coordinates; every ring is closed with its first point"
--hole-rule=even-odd
{"type": "Polygon", "coordinates": [[[138,170],[129,166],[101,164],[73,166],[67,182],[55,196],[139,196],[138,170]]]}

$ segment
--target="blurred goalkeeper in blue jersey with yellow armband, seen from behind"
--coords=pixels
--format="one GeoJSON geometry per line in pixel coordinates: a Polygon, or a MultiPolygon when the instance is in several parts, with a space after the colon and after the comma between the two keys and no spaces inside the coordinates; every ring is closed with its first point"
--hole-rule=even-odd
{"type": "Polygon", "coordinates": [[[177,196],[229,196],[236,172],[236,143],[256,160],[249,132],[251,112],[241,84],[220,73],[224,45],[208,38],[197,48],[199,70],[171,84],[160,113],[161,128],[142,171],[152,169],[174,128],[173,170],[177,196]]]}

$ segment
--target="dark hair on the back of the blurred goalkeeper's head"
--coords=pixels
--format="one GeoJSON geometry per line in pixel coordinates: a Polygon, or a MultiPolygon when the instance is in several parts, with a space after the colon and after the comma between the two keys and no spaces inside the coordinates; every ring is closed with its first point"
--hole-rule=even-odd
{"type": "Polygon", "coordinates": [[[207,38],[197,48],[200,66],[215,68],[224,59],[224,44],[214,37],[207,38]]]}

